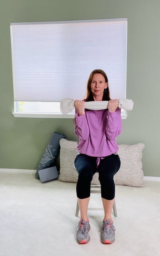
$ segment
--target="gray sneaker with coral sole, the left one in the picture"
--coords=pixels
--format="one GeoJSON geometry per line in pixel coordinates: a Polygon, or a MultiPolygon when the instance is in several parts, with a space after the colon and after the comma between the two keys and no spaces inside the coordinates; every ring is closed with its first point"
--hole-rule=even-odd
{"type": "Polygon", "coordinates": [[[90,236],[88,234],[90,231],[89,221],[80,220],[76,231],[78,244],[86,244],[90,241],[90,236]]]}

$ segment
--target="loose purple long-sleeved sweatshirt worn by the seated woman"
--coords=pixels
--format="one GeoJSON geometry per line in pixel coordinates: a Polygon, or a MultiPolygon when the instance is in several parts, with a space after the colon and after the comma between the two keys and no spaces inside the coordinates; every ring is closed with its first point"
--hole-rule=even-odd
{"type": "Polygon", "coordinates": [[[104,157],[116,154],[116,137],[122,130],[121,109],[116,112],[105,110],[87,110],[78,116],[75,109],[75,134],[79,138],[78,152],[88,156],[104,157]]]}

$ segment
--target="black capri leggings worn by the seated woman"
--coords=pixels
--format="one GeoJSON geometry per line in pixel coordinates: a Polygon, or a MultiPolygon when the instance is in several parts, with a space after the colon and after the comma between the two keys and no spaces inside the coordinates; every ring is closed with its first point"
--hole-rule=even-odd
{"type": "Polygon", "coordinates": [[[78,172],[76,185],[77,197],[80,199],[90,197],[90,183],[93,175],[98,172],[101,184],[101,196],[104,199],[112,200],[115,196],[115,184],[113,176],[120,168],[120,158],[117,154],[105,156],[100,159],[96,168],[97,157],[78,154],[74,160],[74,165],[78,172]]]}

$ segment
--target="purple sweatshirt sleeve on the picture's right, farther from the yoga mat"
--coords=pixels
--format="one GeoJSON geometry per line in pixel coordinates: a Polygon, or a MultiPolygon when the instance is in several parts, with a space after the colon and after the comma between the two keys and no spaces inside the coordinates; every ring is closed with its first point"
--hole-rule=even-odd
{"type": "Polygon", "coordinates": [[[107,111],[106,137],[114,140],[122,131],[121,109],[117,108],[115,112],[107,111]]]}

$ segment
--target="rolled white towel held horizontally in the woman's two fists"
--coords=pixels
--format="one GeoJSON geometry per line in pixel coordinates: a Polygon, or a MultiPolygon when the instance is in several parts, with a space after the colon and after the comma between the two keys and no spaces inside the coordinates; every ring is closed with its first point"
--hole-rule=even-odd
{"type": "MultiPolygon", "coordinates": [[[[128,99],[118,99],[119,108],[123,108],[125,110],[132,110],[133,108],[133,101],[128,100],[128,99]]],[[[62,114],[66,115],[70,113],[72,110],[74,110],[74,102],[75,100],[70,99],[70,98],[64,98],[60,102],[60,111],[62,114]]],[[[101,110],[101,109],[106,109],[108,105],[108,101],[88,101],[85,102],[85,108],[89,110],[101,110]]]]}

